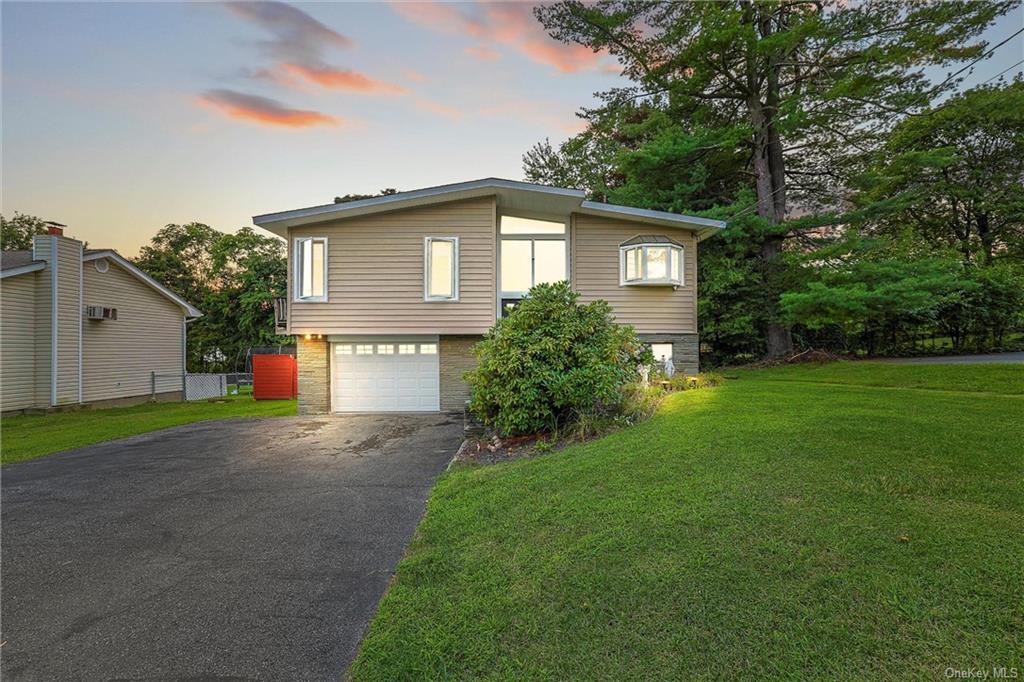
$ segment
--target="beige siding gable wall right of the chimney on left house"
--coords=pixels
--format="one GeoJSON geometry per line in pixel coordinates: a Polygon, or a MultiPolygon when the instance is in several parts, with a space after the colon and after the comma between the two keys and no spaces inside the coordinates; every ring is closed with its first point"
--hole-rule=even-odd
{"type": "Polygon", "coordinates": [[[118,309],[117,319],[86,319],[82,398],[86,402],[181,390],[183,310],[113,260],[106,272],[83,263],[84,305],[118,309]]]}

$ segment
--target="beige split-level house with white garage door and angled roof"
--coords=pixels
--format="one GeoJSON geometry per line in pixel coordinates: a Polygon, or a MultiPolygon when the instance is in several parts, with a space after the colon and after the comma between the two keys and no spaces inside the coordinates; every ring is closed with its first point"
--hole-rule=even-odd
{"type": "Polygon", "coordinates": [[[696,247],[725,224],[584,197],[488,178],[253,218],[288,241],[300,412],[461,410],[473,345],[561,280],[696,372],[696,247]]]}

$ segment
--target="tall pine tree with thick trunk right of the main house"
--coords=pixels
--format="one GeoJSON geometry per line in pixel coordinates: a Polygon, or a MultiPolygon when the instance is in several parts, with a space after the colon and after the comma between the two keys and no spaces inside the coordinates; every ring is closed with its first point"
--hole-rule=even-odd
{"type": "MultiPolygon", "coordinates": [[[[793,347],[776,272],[793,204],[838,204],[839,160],[954,87],[955,78],[933,85],[924,68],[982,56],[979,35],[1016,4],[567,0],[535,11],[554,38],[618,59],[632,85],[606,93],[605,120],[615,118],[609,109],[636,111],[639,102],[686,130],[699,121],[716,144],[738,143],[756,193],[750,252],[767,289],[763,333],[768,354],[779,356],[793,347]]],[[[526,159],[541,175],[544,164],[558,162],[558,153],[544,152],[526,159]]],[[[622,175],[613,160],[602,161],[611,165],[605,177],[622,175]]]]}

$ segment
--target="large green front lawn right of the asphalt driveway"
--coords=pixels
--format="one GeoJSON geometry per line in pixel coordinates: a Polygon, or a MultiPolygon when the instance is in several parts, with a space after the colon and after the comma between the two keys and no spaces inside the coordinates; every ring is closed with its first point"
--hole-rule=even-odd
{"type": "Polygon", "coordinates": [[[1024,367],[732,374],[442,476],[354,679],[1024,669],[1024,367]]]}

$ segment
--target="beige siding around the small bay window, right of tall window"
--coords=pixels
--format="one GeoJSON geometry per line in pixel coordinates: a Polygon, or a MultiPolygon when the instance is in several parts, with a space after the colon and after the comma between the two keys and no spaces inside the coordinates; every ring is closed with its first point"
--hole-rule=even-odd
{"type": "Polygon", "coordinates": [[[696,332],[696,251],[690,230],[575,214],[572,287],[584,302],[608,301],[615,319],[640,334],[696,332]],[[683,245],[684,286],[674,290],[618,285],[618,245],[637,235],[665,235],[683,245]]]}

